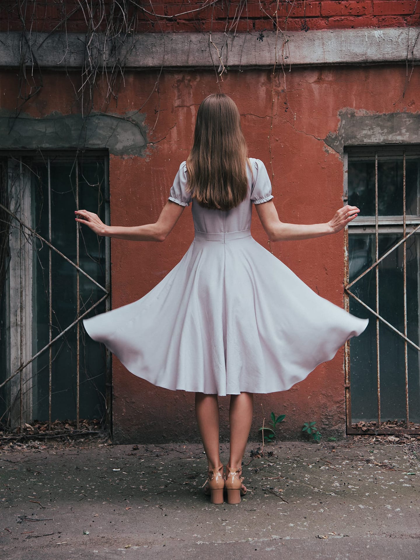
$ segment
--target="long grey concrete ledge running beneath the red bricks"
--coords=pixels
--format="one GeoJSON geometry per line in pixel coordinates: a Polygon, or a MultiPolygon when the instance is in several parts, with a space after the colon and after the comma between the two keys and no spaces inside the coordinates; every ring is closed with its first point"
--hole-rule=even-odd
{"type": "MultiPolygon", "coordinates": [[[[312,64],[376,64],[419,62],[420,27],[388,29],[334,29],[240,33],[139,33],[128,37],[115,55],[113,44],[101,35],[90,41],[90,52],[100,66],[125,60],[126,68],[228,68],[312,64]],[[284,44],[284,49],[283,49],[284,44]],[[277,48],[276,48],[277,45],[277,48]]],[[[0,67],[26,63],[40,68],[80,68],[86,61],[86,35],[31,33],[29,44],[19,32],[0,33],[0,67]]],[[[124,64],[124,62],[123,62],[124,64]]]]}

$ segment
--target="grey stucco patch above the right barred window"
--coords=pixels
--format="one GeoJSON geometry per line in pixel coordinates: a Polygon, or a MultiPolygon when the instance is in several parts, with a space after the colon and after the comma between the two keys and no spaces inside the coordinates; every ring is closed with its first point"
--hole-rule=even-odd
{"type": "Polygon", "coordinates": [[[344,146],[372,144],[413,144],[420,142],[419,113],[371,113],[341,109],[337,132],[330,132],[324,142],[339,154],[344,146]]]}

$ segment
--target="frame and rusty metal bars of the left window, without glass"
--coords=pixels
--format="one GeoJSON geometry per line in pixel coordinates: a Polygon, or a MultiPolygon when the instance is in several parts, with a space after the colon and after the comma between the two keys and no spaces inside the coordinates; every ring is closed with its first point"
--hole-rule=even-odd
{"type": "MultiPolygon", "coordinates": [[[[43,160],[47,164],[48,169],[48,190],[49,201],[50,195],[50,177],[49,177],[49,162],[52,158],[59,158],[59,161],[71,161],[76,165],[76,206],[78,200],[79,186],[78,186],[78,165],[80,160],[102,160],[104,165],[104,211],[105,223],[110,223],[110,194],[109,194],[109,151],[108,150],[1,150],[0,157],[7,162],[7,188],[9,193],[13,186],[13,180],[17,178],[17,196],[10,197],[10,211],[15,214],[20,226],[16,225],[16,218],[11,217],[11,230],[9,235],[10,241],[10,260],[8,263],[8,270],[6,276],[5,297],[4,304],[6,306],[6,363],[8,371],[6,379],[0,386],[6,388],[6,406],[10,410],[10,422],[8,428],[24,428],[25,423],[32,420],[32,388],[36,379],[32,376],[32,362],[41,353],[47,351],[49,347],[49,430],[52,428],[51,418],[51,344],[54,340],[65,335],[67,330],[76,324],[77,329],[77,408],[76,408],[76,429],[80,426],[79,418],[79,354],[80,354],[80,321],[94,309],[100,302],[105,301],[105,311],[111,309],[111,259],[110,259],[110,238],[105,237],[105,286],[100,286],[95,280],[90,278],[79,267],[79,227],[76,228],[76,263],[64,256],[73,267],[76,268],[77,278],[77,294],[79,293],[79,277],[80,273],[90,278],[93,282],[101,288],[105,293],[99,301],[87,311],[80,313],[80,297],[77,297],[77,318],[72,325],[66,326],[60,332],[58,337],[52,340],[51,337],[51,321],[50,321],[50,336],[48,347],[41,349],[35,355],[32,353],[32,314],[33,314],[33,289],[32,289],[32,276],[33,276],[33,261],[34,250],[32,249],[32,237],[38,237],[42,242],[49,247],[49,293],[51,293],[52,280],[51,280],[51,266],[52,266],[52,251],[60,251],[54,248],[51,241],[51,216],[49,209],[49,232],[50,239],[40,238],[34,232],[33,211],[32,211],[32,192],[31,192],[31,179],[30,169],[25,169],[24,158],[34,158],[34,160],[43,160]],[[15,222],[13,224],[13,222],[15,222]],[[17,366],[17,367],[16,367],[17,366]]],[[[16,189],[16,184],[13,187],[16,189]]],[[[50,301],[50,318],[51,318],[51,297],[50,301]]],[[[112,382],[111,382],[111,353],[106,349],[106,371],[105,371],[105,424],[111,430],[111,405],[112,405],[112,382]]]]}

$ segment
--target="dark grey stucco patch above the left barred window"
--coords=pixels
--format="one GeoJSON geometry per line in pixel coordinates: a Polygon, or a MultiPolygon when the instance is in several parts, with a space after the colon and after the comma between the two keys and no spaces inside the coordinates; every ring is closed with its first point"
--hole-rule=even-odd
{"type": "Polygon", "coordinates": [[[1,150],[103,149],[115,155],[142,156],[147,146],[145,115],[130,111],[123,115],[51,113],[34,118],[0,110],[1,150]]]}

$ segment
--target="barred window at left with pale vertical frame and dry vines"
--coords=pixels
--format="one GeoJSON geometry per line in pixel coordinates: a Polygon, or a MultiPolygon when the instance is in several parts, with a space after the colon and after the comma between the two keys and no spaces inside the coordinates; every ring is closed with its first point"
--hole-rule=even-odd
{"type": "Polygon", "coordinates": [[[109,223],[108,156],[15,152],[1,170],[1,423],[104,418],[110,356],[80,319],[109,309],[109,239],[74,210],[109,223]]]}

